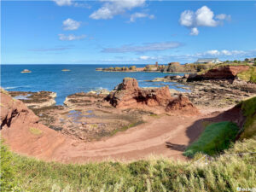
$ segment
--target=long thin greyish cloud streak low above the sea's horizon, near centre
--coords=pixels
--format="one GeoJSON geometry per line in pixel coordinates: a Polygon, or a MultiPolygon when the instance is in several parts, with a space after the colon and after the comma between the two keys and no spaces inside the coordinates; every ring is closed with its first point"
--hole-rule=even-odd
{"type": "Polygon", "coordinates": [[[183,44],[178,42],[148,43],[148,44],[137,45],[137,46],[123,45],[118,48],[105,48],[105,49],[102,49],[102,52],[104,53],[127,53],[127,52],[143,53],[148,51],[174,49],[182,45],[183,44]]]}

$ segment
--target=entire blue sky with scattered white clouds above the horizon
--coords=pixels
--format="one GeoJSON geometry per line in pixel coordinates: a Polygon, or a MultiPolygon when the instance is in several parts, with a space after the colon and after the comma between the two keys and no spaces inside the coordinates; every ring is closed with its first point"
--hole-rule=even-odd
{"type": "Polygon", "coordinates": [[[256,57],[256,1],[2,1],[2,64],[256,57]]]}

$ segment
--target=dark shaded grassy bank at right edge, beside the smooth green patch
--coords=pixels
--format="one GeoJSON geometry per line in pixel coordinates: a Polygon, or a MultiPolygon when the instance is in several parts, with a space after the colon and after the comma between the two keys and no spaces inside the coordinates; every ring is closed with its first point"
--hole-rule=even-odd
{"type": "Polygon", "coordinates": [[[239,104],[242,114],[246,117],[240,139],[250,138],[256,135],[256,96],[239,104]]]}

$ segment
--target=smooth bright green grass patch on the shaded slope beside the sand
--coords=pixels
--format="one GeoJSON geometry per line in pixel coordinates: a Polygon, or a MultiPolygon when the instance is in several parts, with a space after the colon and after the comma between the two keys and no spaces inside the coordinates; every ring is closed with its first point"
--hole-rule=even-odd
{"type": "Polygon", "coordinates": [[[238,132],[236,124],[224,121],[207,125],[201,137],[186,149],[184,155],[193,157],[196,153],[214,155],[230,147],[238,132]]]}

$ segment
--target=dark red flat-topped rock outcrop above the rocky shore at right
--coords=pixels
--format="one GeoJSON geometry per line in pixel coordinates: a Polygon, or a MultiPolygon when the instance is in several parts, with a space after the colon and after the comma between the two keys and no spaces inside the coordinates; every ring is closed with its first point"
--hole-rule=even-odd
{"type": "Polygon", "coordinates": [[[247,71],[249,66],[224,66],[212,68],[207,73],[195,75],[191,74],[188,78],[188,81],[195,80],[206,80],[206,79],[235,79],[237,73],[247,71]]]}

